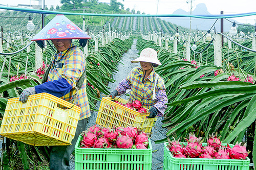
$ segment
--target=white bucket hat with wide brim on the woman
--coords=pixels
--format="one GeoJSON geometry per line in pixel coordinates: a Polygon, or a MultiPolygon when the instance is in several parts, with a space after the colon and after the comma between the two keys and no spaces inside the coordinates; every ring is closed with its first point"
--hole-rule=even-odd
{"type": "Polygon", "coordinates": [[[132,60],[131,62],[138,63],[140,61],[162,65],[160,61],[157,59],[157,52],[152,48],[145,48],[141,51],[140,57],[135,60],[132,60]]]}

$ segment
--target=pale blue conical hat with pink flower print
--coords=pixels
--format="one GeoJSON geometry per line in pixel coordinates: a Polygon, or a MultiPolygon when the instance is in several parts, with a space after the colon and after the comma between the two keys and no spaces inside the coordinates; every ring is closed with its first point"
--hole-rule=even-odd
{"type": "Polygon", "coordinates": [[[64,15],[56,15],[32,41],[52,40],[52,39],[90,39],[91,37],[84,33],[71,20],[64,15]]]}

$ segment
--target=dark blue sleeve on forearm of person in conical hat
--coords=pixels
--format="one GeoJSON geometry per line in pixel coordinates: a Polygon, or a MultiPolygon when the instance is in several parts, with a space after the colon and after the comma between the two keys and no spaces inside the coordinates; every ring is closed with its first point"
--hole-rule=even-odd
{"type": "Polygon", "coordinates": [[[47,92],[47,93],[57,96],[58,98],[60,98],[63,95],[68,94],[71,89],[72,89],[72,86],[64,78],[54,80],[54,81],[45,82],[45,83],[35,86],[36,93],[47,92]]]}

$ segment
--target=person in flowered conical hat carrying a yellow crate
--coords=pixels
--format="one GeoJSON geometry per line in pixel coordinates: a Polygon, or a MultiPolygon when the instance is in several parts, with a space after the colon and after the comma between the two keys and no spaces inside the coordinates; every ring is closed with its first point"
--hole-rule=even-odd
{"type": "Polygon", "coordinates": [[[72,39],[79,39],[85,46],[89,37],[64,15],[56,15],[48,25],[32,39],[40,47],[42,40],[51,40],[57,49],[42,84],[24,89],[19,100],[26,103],[29,95],[47,92],[81,108],[75,137],[71,145],[50,147],[50,169],[70,169],[69,159],[79,134],[86,129],[91,116],[86,92],[86,59],[72,39]]]}

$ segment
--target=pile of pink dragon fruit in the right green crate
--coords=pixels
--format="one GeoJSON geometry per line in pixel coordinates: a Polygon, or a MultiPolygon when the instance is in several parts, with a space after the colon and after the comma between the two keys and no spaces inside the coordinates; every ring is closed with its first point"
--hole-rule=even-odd
{"type": "Polygon", "coordinates": [[[194,133],[190,133],[187,145],[180,143],[179,140],[168,138],[167,148],[176,158],[213,158],[213,159],[246,159],[250,152],[246,151],[246,143],[236,143],[233,148],[222,145],[218,133],[209,135],[207,145],[202,145],[202,137],[198,138],[194,133]]]}

